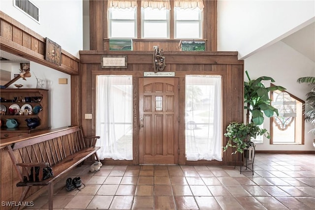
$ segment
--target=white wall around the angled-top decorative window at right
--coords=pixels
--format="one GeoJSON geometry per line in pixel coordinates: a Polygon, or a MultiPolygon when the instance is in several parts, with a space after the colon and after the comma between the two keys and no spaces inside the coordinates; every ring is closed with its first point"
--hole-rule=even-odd
{"type": "MultiPolygon", "coordinates": [[[[297,83],[296,80],[300,77],[315,76],[315,63],[282,41],[245,59],[244,69],[249,72],[251,79],[260,76],[272,77],[276,81],[273,84],[283,86],[286,91],[302,100],[306,99],[310,88],[306,84],[297,83]]],[[[246,75],[245,80],[248,81],[246,75]]],[[[270,81],[265,81],[264,85],[269,87],[270,81]]],[[[269,130],[270,122],[266,119],[264,128],[269,130]]],[[[312,128],[312,124],[305,123],[305,145],[270,145],[269,140],[264,138],[264,143],[257,145],[256,150],[315,150],[315,137],[308,133],[312,128]]]]}

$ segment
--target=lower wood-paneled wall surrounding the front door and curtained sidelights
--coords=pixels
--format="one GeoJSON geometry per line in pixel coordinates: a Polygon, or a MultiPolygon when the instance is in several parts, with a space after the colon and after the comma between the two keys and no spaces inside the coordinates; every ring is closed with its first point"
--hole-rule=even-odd
{"type": "MultiPolygon", "coordinates": [[[[243,121],[243,84],[244,61],[237,59],[237,52],[164,52],[165,72],[175,72],[180,78],[179,115],[185,119],[185,76],[221,75],[222,76],[222,130],[231,121],[243,121]]],[[[139,91],[138,81],[144,72],[153,72],[153,52],[150,51],[80,51],[81,60],[81,98],[82,126],[86,135],[95,135],[95,78],[96,75],[132,75],[133,77],[133,161],[139,164],[139,91]],[[127,68],[101,68],[102,55],[124,55],[127,68]],[[83,115],[92,113],[92,120],[83,115]]],[[[226,138],[222,134],[223,142],[226,138]]],[[[189,164],[185,157],[185,120],[179,125],[180,164],[189,164]]],[[[194,161],[194,164],[234,164],[231,151],[223,153],[223,161],[194,161]]],[[[112,162],[111,162],[112,163],[112,162]]]]}

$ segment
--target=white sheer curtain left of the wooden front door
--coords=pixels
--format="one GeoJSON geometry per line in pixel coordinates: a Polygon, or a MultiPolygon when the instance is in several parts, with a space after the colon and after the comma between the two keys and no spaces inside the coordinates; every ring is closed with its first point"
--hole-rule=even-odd
{"type": "Polygon", "coordinates": [[[96,135],[100,159],[132,160],[132,76],[96,77],[96,135]]]}

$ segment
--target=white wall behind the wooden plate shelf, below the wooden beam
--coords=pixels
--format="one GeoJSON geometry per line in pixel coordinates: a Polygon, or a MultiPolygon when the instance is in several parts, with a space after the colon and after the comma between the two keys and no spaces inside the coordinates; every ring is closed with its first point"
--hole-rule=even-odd
{"type": "MultiPolygon", "coordinates": [[[[20,63],[11,63],[11,65],[2,65],[1,69],[11,71],[11,78],[14,74],[19,73],[20,63]],[[5,66],[8,69],[3,69],[5,66]]],[[[43,66],[41,64],[30,62],[30,69],[32,76],[26,80],[19,79],[8,88],[14,88],[14,84],[22,84],[23,88],[36,88],[36,77],[46,81],[43,89],[48,90],[48,107],[49,107],[49,126],[51,128],[59,128],[68,126],[71,123],[71,110],[70,110],[70,75],[63,72],[56,71],[52,68],[43,66]],[[67,85],[58,84],[59,78],[67,78],[67,85]]]]}

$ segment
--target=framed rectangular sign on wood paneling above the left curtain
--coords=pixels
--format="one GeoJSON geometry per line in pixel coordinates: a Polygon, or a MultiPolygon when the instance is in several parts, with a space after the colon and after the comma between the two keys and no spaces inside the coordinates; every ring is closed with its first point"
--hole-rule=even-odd
{"type": "Polygon", "coordinates": [[[102,68],[127,68],[127,56],[103,55],[101,56],[102,68]]]}

